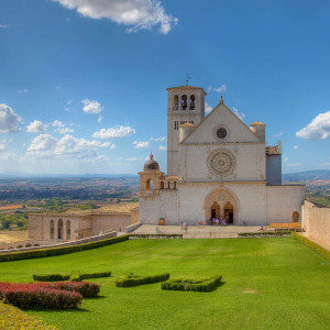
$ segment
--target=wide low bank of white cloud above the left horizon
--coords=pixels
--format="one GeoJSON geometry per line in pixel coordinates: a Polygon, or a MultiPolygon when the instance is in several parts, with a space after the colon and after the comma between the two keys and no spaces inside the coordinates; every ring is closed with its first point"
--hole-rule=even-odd
{"type": "Polygon", "coordinates": [[[37,135],[28,147],[28,156],[32,157],[74,157],[89,158],[99,157],[99,147],[114,148],[110,142],[85,140],[66,134],[56,139],[51,134],[37,135]]]}

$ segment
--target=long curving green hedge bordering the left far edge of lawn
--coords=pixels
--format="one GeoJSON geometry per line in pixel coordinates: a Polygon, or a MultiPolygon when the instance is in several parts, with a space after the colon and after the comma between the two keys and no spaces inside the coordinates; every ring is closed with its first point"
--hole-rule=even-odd
{"type": "Polygon", "coordinates": [[[52,255],[61,255],[67,253],[74,253],[79,251],[85,251],[89,249],[96,249],[105,245],[112,245],[119,242],[123,242],[129,240],[130,235],[122,235],[118,238],[110,238],[100,241],[82,243],[78,245],[69,245],[69,246],[59,246],[59,248],[48,248],[48,249],[40,249],[33,251],[22,251],[22,252],[10,252],[10,253],[0,253],[0,262],[8,262],[8,261],[16,261],[16,260],[26,260],[26,258],[34,258],[34,257],[44,257],[44,256],[52,256],[52,255]]]}

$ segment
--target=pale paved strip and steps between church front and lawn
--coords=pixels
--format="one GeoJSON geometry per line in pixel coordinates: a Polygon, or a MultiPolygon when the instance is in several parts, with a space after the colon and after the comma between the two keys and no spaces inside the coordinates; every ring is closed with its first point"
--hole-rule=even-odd
{"type": "Polygon", "coordinates": [[[237,238],[240,232],[258,232],[255,226],[188,226],[187,230],[180,226],[142,224],[133,233],[136,234],[184,234],[184,239],[222,239],[237,238]]]}

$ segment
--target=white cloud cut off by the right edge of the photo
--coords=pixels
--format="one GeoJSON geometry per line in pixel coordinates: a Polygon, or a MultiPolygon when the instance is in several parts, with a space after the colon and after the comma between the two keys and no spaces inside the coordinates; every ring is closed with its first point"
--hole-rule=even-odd
{"type": "Polygon", "coordinates": [[[307,127],[296,133],[298,138],[324,140],[330,135],[330,111],[318,114],[307,127]]]}

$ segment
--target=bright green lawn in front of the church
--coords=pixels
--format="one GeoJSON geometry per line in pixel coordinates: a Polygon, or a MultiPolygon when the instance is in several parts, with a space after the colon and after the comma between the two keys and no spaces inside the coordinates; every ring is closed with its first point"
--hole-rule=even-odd
{"type": "Polygon", "coordinates": [[[290,238],[131,240],[37,260],[0,263],[0,280],[31,282],[33,273],[97,272],[101,297],[79,310],[29,311],[62,329],[230,328],[329,329],[329,262],[290,238]],[[173,277],[222,274],[212,293],[165,292],[160,284],[117,288],[134,272],[173,277]]]}

